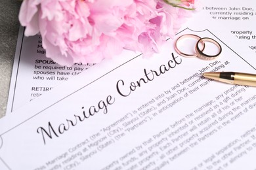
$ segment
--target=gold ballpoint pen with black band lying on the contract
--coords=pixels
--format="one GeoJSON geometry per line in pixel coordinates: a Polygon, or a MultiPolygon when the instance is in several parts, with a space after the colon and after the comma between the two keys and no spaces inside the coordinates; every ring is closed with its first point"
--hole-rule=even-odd
{"type": "Polygon", "coordinates": [[[211,78],[228,84],[238,84],[256,87],[256,75],[236,72],[209,72],[203,73],[205,78],[211,78]]]}

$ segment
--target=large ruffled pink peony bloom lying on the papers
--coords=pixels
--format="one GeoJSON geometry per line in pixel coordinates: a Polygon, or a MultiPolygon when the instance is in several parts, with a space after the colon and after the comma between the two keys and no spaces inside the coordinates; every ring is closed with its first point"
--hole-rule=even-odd
{"type": "Polygon", "coordinates": [[[70,66],[98,63],[123,48],[152,56],[190,12],[163,0],[24,0],[19,20],[26,36],[41,34],[48,58],[70,66]]]}

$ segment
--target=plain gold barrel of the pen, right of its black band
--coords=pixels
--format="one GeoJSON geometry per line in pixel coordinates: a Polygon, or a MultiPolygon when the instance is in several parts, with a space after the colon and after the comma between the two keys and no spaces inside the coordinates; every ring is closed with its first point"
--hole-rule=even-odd
{"type": "Polygon", "coordinates": [[[256,87],[256,75],[247,73],[235,73],[234,84],[256,87]]]}

